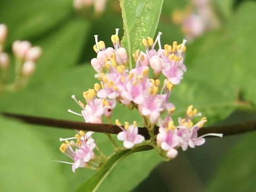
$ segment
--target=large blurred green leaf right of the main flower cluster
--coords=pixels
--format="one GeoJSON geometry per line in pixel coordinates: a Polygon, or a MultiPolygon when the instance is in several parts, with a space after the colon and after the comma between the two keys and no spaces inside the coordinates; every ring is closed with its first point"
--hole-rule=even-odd
{"type": "Polygon", "coordinates": [[[256,3],[245,3],[225,28],[188,45],[188,71],[171,94],[177,107],[175,116],[184,114],[188,105],[202,111],[210,123],[226,118],[237,108],[255,111],[251,105],[256,103],[256,91],[252,89],[256,74],[255,9],[256,3]]]}

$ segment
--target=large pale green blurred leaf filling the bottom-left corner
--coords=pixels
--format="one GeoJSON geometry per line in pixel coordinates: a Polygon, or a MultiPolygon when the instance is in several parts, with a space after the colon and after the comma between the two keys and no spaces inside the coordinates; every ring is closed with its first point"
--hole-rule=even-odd
{"type": "Polygon", "coordinates": [[[0,117],[0,191],[63,191],[67,187],[53,148],[30,127],[0,117]]]}

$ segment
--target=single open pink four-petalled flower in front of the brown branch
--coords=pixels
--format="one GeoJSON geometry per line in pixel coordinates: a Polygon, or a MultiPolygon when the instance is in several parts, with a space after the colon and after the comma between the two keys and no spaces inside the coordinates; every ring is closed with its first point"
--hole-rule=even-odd
{"type": "Polygon", "coordinates": [[[145,140],[145,138],[138,134],[138,127],[135,125],[130,125],[127,127],[127,130],[123,129],[122,132],[118,133],[117,139],[120,141],[124,141],[124,147],[127,149],[132,148],[135,144],[139,144],[145,140]]]}

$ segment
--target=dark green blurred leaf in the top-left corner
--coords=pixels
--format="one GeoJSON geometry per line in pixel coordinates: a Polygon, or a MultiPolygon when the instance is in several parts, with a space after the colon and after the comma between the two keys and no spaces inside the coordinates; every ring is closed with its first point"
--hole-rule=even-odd
{"type": "Polygon", "coordinates": [[[70,0],[1,1],[0,23],[5,23],[9,28],[7,45],[17,39],[31,39],[43,35],[60,26],[70,17],[72,11],[70,0]]]}

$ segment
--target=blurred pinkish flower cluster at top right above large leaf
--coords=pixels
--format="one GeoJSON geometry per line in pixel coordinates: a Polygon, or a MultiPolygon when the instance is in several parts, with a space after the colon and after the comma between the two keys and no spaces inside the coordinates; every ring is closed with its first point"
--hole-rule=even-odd
{"type": "Polygon", "coordinates": [[[185,10],[175,10],[172,15],[174,23],[181,25],[189,41],[201,36],[205,31],[219,26],[219,21],[209,0],[191,0],[185,10]]]}

